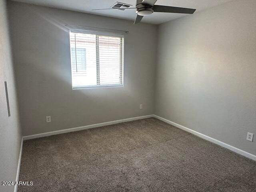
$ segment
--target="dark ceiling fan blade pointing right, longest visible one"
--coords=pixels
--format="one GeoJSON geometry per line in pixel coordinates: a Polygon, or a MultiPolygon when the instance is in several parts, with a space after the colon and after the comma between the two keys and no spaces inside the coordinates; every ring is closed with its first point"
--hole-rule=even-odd
{"type": "Polygon", "coordinates": [[[196,11],[196,9],[172,7],[172,6],[162,6],[162,5],[154,5],[153,9],[154,9],[154,12],[184,13],[184,14],[193,14],[196,11]]]}

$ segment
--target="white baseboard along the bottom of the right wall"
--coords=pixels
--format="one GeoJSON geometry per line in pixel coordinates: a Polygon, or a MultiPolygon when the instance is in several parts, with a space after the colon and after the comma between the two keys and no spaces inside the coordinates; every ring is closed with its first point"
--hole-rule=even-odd
{"type": "Polygon", "coordinates": [[[184,127],[184,126],[182,126],[182,125],[180,125],[180,124],[174,123],[174,122],[172,122],[172,121],[170,121],[170,120],[167,120],[167,119],[165,119],[165,118],[162,118],[162,117],[160,117],[160,116],[153,115],[153,117],[154,117],[154,118],[157,118],[157,119],[159,119],[159,120],[161,120],[161,121],[164,121],[164,122],[166,122],[166,123],[168,123],[168,124],[171,124],[171,125],[173,125],[173,126],[175,126],[175,127],[178,127],[178,128],[180,128],[180,129],[182,129],[182,130],[184,130],[184,131],[186,131],[186,132],[190,132],[190,133],[192,133],[192,134],[194,134],[194,135],[196,135],[196,136],[198,136],[198,137],[200,137],[200,138],[203,138],[203,139],[205,139],[205,140],[208,140],[208,141],[210,141],[210,142],[212,142],[212,143],[215,143],[215,144],[217,144],[217,145],[220,145],[220,146],[222,146],[222,147],[224,147],[224,148],[227,148],[227,149],[229,149],[229,150],[231,150],[231,151],[233,151],[233,152],[236,152],[236,153],[238,153],[238,154],[241,154],[241,155],[243,155],[243,156],[246,156],[246,157],[248,157],[248,158],[250,158],[250,159],[256,161],[256,155],[254,155],[254,154],[248,153],[248,152],[246,152],[246,151],[244,151],[244,150],[241,150],[241,149],[239,149],[239,148],[236,148],[236,147],[234,147],[234,146],[231,146],[231,145],[229,145],[229,144],[226,144],[226,143],[224,143],[224,142],[222,142],[222,141],[216,140],[216,139],[211,138],[211,137],[209,137],[209,136],[207,136],[207,135],[204,135],[204,134],[199,133],[199,132],[196,132],[196,131],[194,131],[194,130],[192,130],[192,129],[186,128],[186,127],[184,127]]]}

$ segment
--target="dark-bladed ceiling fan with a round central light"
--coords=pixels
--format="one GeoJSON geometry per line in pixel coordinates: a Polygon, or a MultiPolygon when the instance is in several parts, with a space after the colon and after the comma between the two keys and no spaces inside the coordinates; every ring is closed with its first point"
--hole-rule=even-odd
{"type": "MultiPolygon", "coordinates": [[[[136,0],[136,7],[122,8],[122,9],[136,9],[137,16],[134,21],[134,24],[139,23],[144,16],[150,15],[153,12],[193,14],[196,11],[196,9],[190,9],[190,8],[155,5],[156,1],[157,0],[136,0]]],[[[107,9],[119,9],[119,8],[107,8],[107,9]]],[[[93,10],[107,10],[107,9],[93,9],[93,10]]]]}

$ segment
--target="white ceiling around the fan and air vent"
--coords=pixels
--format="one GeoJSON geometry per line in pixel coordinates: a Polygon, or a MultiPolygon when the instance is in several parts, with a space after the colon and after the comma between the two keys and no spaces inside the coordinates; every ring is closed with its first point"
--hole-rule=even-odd
{"type": "MultiPolygon", "coordinates": [[[[97,14],[102,16],[110,16],[115,18],[134,20],[136,17],[135,9],[127,10],[98,10],[92,9],[110,8],[116,1],[133,5],[135,7],[136,0],[15,0],[18,2],[36,4],[41,6],[48,6],[54,8],[61,8],[66,10],[74,10],[79,12],[86,12],[90,14],[97,14]]],[[[217,6],[231,0],[158,0],[157,5],[176,6],[185,8],[195,8],[196,11],[204,10],[213,6],[217,6]]],[[[160,24],[167,22],[186,14],[176,13],[153,13],[152,15],[145,16],[142,22],[151,24],[160,24]]]]}

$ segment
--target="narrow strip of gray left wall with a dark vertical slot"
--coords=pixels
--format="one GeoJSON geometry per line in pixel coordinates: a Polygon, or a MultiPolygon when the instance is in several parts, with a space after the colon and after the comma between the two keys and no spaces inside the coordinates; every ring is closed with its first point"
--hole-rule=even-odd
{"type": "MultiPolygon", "coordinates": [[[[0,0],[0,181],[15,181],[20,154],[21,131],[9,41],[5,0],[0,0]],[[11,116],[8,117],[4,81],[8,83],[11,116]]],[[[1,192],[14,186],[0,185],[1,192]]]]}

